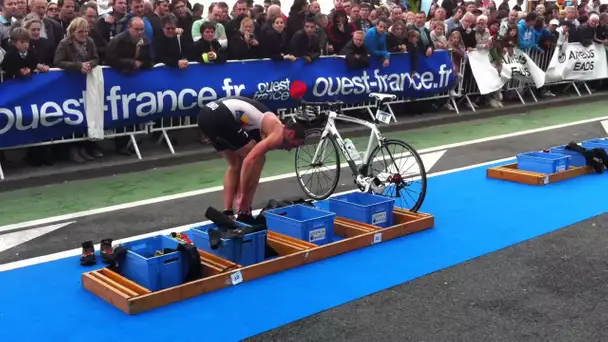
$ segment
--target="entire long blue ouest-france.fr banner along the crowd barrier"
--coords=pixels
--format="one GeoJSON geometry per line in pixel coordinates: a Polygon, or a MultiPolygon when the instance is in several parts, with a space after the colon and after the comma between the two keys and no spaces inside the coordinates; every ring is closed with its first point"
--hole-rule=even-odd
{"type": "Polygon", "coordinates": [[[52,71],[0,83],[0,148],[87,133],[101,122],[107,130],[195,116],[207,102],[231,95],[278,109],[294,107],[294,96],[361,103],[369,100],[371,92],[420,98],[454,85],[447,51],[420,56],[415,72],[408,54],[391,55],[386,68],[372,58],[369,68],[357,70],[348,69],[343,57],[327,57],[312,64],[258,60],[191,64],[186,70],[158,67],[129,75],[111,68],[101,71],[98,78],[52,71]],[[94,89],[87,89],[87,81],[94,89]],[[87,95],[91,95],[90,112],[85,111],[87,95]]]}

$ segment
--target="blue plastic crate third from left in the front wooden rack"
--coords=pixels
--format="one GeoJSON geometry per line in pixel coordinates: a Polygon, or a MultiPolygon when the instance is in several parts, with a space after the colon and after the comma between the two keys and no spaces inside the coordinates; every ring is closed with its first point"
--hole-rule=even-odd
{"type": "Polygon", "coordinates": [[[264,212],[268,229],[323,245],[333,241],[336,214],[305,205],[290,205],[264,212]]]}

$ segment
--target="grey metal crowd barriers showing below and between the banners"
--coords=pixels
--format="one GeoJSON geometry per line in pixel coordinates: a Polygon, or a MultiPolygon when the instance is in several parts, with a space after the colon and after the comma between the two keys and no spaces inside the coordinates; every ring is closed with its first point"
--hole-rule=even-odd
{"type": "MultiPolygon", "coordinates": [[[[549,61],[551,60],[551,56],[553,55],[555,50],[556,49],[554,49],[552,51],[546,51],[545,53],[539,53],[537,51],[525,51],[525,52],[543,71],[546,71],[549,66],[549,61]]],[[[228,61],[228,63],[242,63],[242,62],[246,62],[246,61],[228,61]]],[[[51,71],[60,71],[60,69],[51,69],[51,71]]],[[[395,117],[393,108],[391,107],[392,105],[420,102],[420,101],[437,101],[437,103],[440,103],[443,105],[450,103],[452,105],[452,107],[454,108],[454,111],[456,112],[457,115],[460,114],[459,105],[462,104],[462,102],[465,102],[471,110],[475,111],[476,109],[475,109],[474,98],[480,96],[480,94],[479,94],[479,89],[477,87],[477,83],[471,73],[471,69],[468,65],[468,61],[466,60],[466,58],[463,58],[460,72],[463,75],[463,77],[460,79],[460,82],[458,82],[458,84],[454,87],[454,89],[452,89],[455,92],[455,94],[450,94],[450,91],[448,91],[448,92],[439,93],[439,94],[422,97],[422,98],[399,97],[395,101],[390,102],[389,109],[390,109],[390,112],[392,115],[392,120],[397,122],[397,118],[395,117]],[[454,96],[454,95],[457,95],[457,96],[454,96]]],[[[0,82],[2,82],[2,81],[4,81],[4,77],[3,77],[2,73],[0,72],[0,82]]],[[[545,84],[545,87],[554,86],[554,85],[567,85],[567,87],[563,90],[563,92],[566,92],[570,87],[572,87],[572,88],[574,88],[574,90],[578,96],[583,96],[583,94],[581,94],[581,92],[579,90],[579,87],[583,86],[585,88],[585,90],[587,91],[587,93],[591,94],[591,90],[589,89],[586,82],[584,82],[584,81],[576,81],[576,82],[575,81],[560,81],[560,82],[554,82],[554,83],[547,83],[547,84],[545,84]]],[[[536,89],[534,89],[532,85],[527,85],[527,84],[524,84],[523,82],[520,82],[517,80],[511,80],[510,82],[508,82],[504,86],[503,92],[507,95],[509,93],[514,93],[522,104],[526,104],[525,95],[527,93],[530,94],[530,97],[532,98],[532,100],[534,102],[538,102],[538,99],[536,98],[536,94],[535,94],[536,89]]],[[[364,103],[347,105],[344,107],[344,110],[345,111],[367,110],[367,112],[373,118],[374,113],[372,112],[372,108],[374,108],[375,106],[376,106],[376,102],[370,100],[370,101],[367,101],[364,103]]],[[[293,116],[294,113],[295,113],[295,109],[293,109],[293,108],[283,108],[283,109],[279,109],[277,111],[277,114],[283,119],[293,116]]],[[[164,141],[167,144],[170,152],[172,154],[175,154],[175,148],[173,147],[171,140],[169,139],[169,132],[183,130],[183,129],[191,129],[191,128],[195,128],[195,127],[197,127],[197,123],[196,123],[196,117],[194,117],[194,116],[165,118],[165,119],[158,119],[158,120],[149,122],[147,124],[134,125],[134,126],[117,128],[117,129],[112,129],[112,130],[106,130],[104,132],[104,139],[115,139],[115,138],[120,138],[120,137],[128,137],[129,138],[128,144],[133,146],[133,148],[135,149],[137,158],[142,159],[141,151],[139,149],[136,136],[160,133],[159,139],[157,140],[157,144],[160,144],[164,141]]],[[[39,142],[39,143],[35,143],[35,144],[14,146],[14,147],[8,147],[8,148],[0,148],[0,151],[27,148],[27,147],[45,146],[45,145],[52,145],[52,144],[74,143],[74,142],[80,142],[80,141],[86,141],[86,140],[89,140],[89,138],[86,136],[86,134],[81,134],[81,135],[73,134],[72,136],[66,136],[66,137],[62,137],[59,139],[52,139],[52,140],[43,141],[43,142],[39,142]]],[[[5,175],[2,170],[2,165],[0,163],[0,180],[3,180],[4,178],[5,178],[5,175]]]]}

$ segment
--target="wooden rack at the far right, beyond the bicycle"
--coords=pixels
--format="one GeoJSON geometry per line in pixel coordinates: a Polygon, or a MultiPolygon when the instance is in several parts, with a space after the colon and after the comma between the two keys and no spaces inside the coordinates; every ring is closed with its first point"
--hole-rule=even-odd
{"type": "Polygon", "coordinates": [[[503,166],[492,167],[487,170],[488,178],[503,179],[517,183],[530,185],[545,185],[560,182],[566,179],[592,173],[593,169],[589,166],[570,167],[566,171],[551,174],[523,171],[517,169],[517,163],[503,166]]]}

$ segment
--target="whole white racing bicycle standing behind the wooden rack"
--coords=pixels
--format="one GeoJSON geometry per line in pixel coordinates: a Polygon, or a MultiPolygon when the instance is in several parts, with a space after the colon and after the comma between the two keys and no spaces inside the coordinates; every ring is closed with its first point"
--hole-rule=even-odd
{"type": "Polygon", "coordinates": [[[300,103],[295,119],[313,128],[307,130],[304,145],[295,153],[298,183],[308,197],[323,200],[336,190],[341,168],[349,167],[359,190],[397,198],[399,207],[415,212],[426,196],[426,171],[422,159],[408,143],[384,137],[377,127],[380,122],[390,123],[392,115],[388,102],[396,96],[371,93],[370,97],[377,104],[373,122],[344,115],[342,102],[300,103]],[[365,153],[357,152],[349,139],[342,139],[336,120],[371,130],[365,153]],[[342,152],[347,164],[340,164],[338,151],[342,152]]]}

